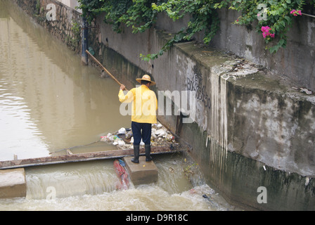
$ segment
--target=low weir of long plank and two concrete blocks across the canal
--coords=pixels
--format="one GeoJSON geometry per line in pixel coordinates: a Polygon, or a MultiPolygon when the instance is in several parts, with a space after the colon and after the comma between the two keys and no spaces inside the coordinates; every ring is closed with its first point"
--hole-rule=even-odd
{"type": "MultiPolygon", "coordinates": [[[[165,153],[179,153],[181,150],[171,150],[169,146],[153,146],[151,155],[165,153]]],[[[133,149],[107,150],[97,153],[73,154],[50,156],[44,158],[30,158],[23,160],[8,160],[0,162],[0,198],[25,197],[27,182],[25,181],[25,167],[39,167],[70,162],[86,162],[93,160],[109,160],[123,158],[129,171],[129,176],[134,185],[150,184],[158,181],[158,168],[153,161],[146,162],[145,149],[140,148],[140,163],[131,162],[130,155],[133,149]]],[[[69,154],[70,153],[70,154],[69,154]]],[[[127,175],[128,176],[128,175],[127,175]]]]}

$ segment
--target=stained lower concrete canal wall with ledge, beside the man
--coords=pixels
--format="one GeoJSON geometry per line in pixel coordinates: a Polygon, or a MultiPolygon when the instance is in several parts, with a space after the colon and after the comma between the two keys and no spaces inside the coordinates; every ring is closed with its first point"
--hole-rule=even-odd
{"type": "MultiPolygon", "coordinates": [[[[18,4],[30,11],[30,2],[36,1],[18,4]]],[[[40,2],[45,7],[55,1],[40,2]]],[[[58,25],[78,16],[68,11],[65,7],[54,25],[41,23],[57,37],[55,33],[69,35],[67,25],[58,25]]],[[[193,120],[179,130],[174,112],[162,112],[159,119],[191,145],[189,153],[207,181],[227,199],[259,210],[315,210],[315,96],[293,89],[300,87],[292,83],[295,79],[194,42],[176,44],[157,60],[142,61],[140,53],[158,52],[168,37],[157,29],[159,24],[142,34],[132,34],[127,27],[116,34],[100,16],[97,27],[89,30],[89,45],[129,89],[136,77],[148,73],[157,82],[160,100],[168,98],[165,91],[195,91],[193,120]]],[[[313,56],[312,51],[306,53],[313,56]]],[[[182,107],[174,96],[172,100],[175,111],[182,107]]]]}

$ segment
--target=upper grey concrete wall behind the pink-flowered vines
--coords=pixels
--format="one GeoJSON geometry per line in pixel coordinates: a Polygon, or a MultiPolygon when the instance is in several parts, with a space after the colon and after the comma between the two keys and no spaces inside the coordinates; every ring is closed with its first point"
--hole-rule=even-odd
{"type": "MultiPolygon", "coordinates": [[[[309,13],[315,15],[314,8],[309,13]]],[[[288,31],[287,47],[271,54],[265,50],[266,44],[260,32],[256,32],[256,24],[250,29],[242,25],[234,25],[240,13],[228,9],[219,11],[219,31],[210,42],[210,46],[224,51],[231,51],[265,68],[274,70],[277,76],[288,77],[297,86],[304,86],[315,91],[315,18],[307,15],[294,18],[288,31]]],[[[178,32],[187,23],[188,18],[173,23],[165,16],[160,16],[157,28],[167,32],[178,32]]],[[[202,42],[202,35],[195,35],[202,42]]]]}

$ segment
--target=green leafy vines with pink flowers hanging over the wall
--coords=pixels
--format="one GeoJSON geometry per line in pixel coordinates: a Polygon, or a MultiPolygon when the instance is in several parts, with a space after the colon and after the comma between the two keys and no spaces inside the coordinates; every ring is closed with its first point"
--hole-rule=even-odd
{"type": "Polygon", "coordinates": [[[302,15],[304,6],[315,8],[315,0],[79,0],[83,15],[89,22],[104,15],[104,23],[113,25],[115,32],[123,32],[122,24],[132,27],[132,32],[148,30],[156,22],[158,13],[166,13],[176,21],[189,15],[190,20],[179,32],[170,36],[158,53],[143,55],[143,60],[154,60],[174,43],[189,41],[203,32],[203,42],[209,44],[219,30],[219,9],[240,11],[236,25],[252,27],[257,21],[257,32],[262,33],[266,49],[275,53],[284,48],[287,32],[296,17],[302,15]]]}

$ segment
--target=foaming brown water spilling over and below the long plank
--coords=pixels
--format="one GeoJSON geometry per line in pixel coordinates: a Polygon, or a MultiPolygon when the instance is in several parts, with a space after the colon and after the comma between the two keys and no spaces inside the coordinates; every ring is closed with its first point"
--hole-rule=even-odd
{"type": "Polygon", "coordinates": [[[155,156],[158,182],[116,188],[112,160],[27,169],[27,197],[0,200],[1,210],[234,210],[206,184],[192,186],[181,156],[155,156]],[[172,169],[171,169],[172,168],[172,169]],[[52,198],[53,189],[56,198],[52,198]],[[210,200],[203,198],[203,195],[210,200]]]}

